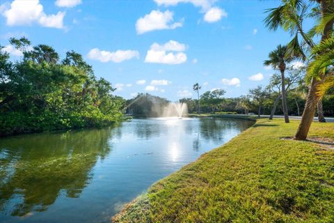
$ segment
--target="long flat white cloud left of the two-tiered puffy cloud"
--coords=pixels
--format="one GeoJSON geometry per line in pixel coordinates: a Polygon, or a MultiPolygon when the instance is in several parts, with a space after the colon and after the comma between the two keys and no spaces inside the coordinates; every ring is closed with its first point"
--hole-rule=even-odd
{"type": "Polygon", "coordinates": [[[139,52],[136,50],[120,50],[116,52],[109,52],[105,50],[100,50],[97,48],[90,49],[88,52],[88,58],[101,61],[103,63],[113,61],[114,63],[120,63],[122,61],[127,61],[133,58],[139,58],[139,52]]]}

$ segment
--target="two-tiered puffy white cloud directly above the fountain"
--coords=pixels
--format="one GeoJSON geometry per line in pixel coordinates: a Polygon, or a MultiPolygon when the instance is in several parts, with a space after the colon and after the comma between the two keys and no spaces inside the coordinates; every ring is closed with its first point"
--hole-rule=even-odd
{"type": "Polygon", "coordinates": [[[145,57],[145,63],[180,64],[186,62],[184,51],[186,46],[175,40],[170,40],[164,45],[153,43],[145,57]],[[173,52],[177,53],[173,53],[173,52]]]}

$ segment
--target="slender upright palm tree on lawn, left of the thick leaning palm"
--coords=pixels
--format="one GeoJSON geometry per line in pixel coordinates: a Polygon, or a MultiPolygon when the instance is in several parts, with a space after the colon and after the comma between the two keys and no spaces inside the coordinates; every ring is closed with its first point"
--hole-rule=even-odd
{"type": "Polygon", "coordinates": [[[282,87],[282,102],[285,123],[289,123],[289,114],[287,113],[287,94],[285,89],[285,69],[287,63],[292,61],[292,56],[288,55],[287,46],[278,45],[277,48],[269,53],[269,60],[264,61],[265,66],[272,66],[273,69],[280,70],[280,86],[282,87]]]}

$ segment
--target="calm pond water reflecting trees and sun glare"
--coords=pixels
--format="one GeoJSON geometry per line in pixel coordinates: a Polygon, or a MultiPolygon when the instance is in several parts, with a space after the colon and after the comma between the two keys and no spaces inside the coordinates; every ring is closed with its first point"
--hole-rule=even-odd
{"type": "Polygon", "coordinates": [[[0,222],[110,222],[155,181],[253,122],[134,119],[0,139],[0,222]]]}

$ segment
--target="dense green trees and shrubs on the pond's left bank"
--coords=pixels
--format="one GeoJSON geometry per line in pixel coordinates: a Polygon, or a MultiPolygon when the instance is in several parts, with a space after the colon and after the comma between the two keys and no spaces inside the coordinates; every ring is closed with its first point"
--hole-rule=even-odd
{"type": "MultiPolygon", "coordinates": [[[[11,39],[24,56],[10,61],[0,52],[0,135],[100,127],[119,121],[124,100],[97,79],[80,54],[60,61],[47,45],[28,50],[26,38],[11,39]]],[[[2,47],[1,47],[2,48],[2,47]]]]}

